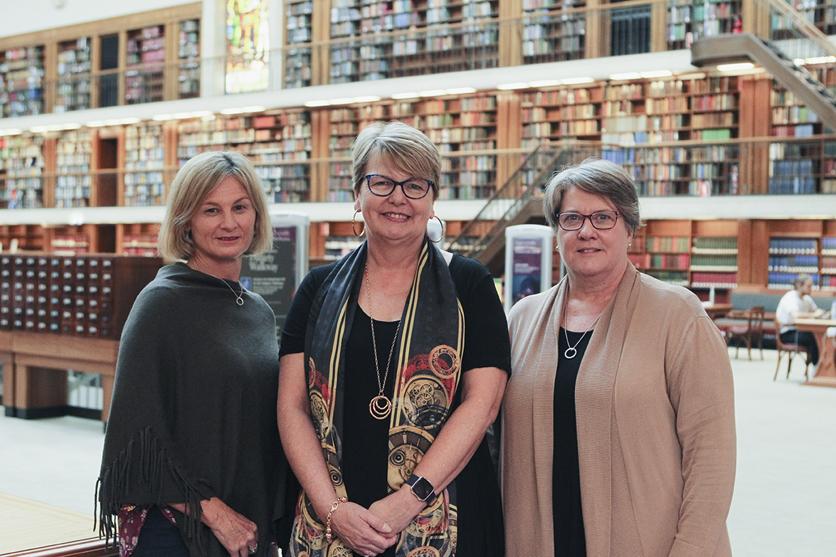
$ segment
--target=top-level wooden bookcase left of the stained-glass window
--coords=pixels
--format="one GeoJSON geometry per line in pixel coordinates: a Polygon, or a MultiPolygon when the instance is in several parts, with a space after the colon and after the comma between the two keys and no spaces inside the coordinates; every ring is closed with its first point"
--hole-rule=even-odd
{"type": "Polygon", "coordinates": [[[202,9],[187,3],[0,38],[0,115],[199,96],[202,9]]]}

